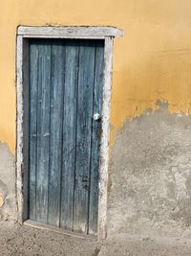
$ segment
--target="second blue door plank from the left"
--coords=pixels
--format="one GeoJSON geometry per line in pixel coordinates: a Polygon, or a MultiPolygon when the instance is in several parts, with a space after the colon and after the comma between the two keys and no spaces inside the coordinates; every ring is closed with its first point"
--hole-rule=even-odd
{"type": "Polygon", "coordinates": [[[43,40],[38,46],[38,106],[37,106],[37,168],[36,168],[36,221],[47,222],[50,93],[51,93],[51,44],[43,40]]]}

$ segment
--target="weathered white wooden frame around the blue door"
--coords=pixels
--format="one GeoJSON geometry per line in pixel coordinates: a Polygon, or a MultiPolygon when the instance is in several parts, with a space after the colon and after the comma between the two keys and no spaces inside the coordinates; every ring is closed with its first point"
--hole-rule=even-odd
{"type": "Polygon", "coordinates": [[[27,124],[28,103],[28,39],[37,38],[83,38],[104,39],[104,84],[102,104],[102,134],[100,142],[99,197],[97,237],[104,239],[107,234],[107,182],[110,136],[110,109],[112,94],[113,43],[115,36],[122,36],[121,30],[114,27],[25,27],[17,29],[16,47],[16,90],[17,90],[17,131],[16,131],[16,197],[18,221],[28,219],[28,161],[27,124]]]}

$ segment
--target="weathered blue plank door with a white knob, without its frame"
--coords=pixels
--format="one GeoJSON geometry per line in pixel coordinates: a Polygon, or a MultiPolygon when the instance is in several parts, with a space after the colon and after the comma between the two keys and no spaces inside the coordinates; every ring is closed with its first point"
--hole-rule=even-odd
{"type": "Polygon", "coordinates": [[[102,40],[30,39],[29,219],[95,234],[102,40]]]}

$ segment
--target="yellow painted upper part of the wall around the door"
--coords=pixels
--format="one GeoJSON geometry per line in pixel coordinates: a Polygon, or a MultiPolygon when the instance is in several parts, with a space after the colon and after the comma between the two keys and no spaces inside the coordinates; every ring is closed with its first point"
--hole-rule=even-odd
{"type": "Polygon", "coordinates": [[[190,0],[2,0],[0,141],[15,150],[15,35],[18,25],[111,25],[116,39],[112,138],[158,99],[191,112],[190,0]]]}

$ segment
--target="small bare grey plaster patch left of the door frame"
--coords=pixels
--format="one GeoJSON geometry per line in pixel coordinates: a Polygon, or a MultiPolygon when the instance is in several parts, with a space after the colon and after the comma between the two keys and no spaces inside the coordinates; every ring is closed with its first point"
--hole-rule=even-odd
{"type": "Polygon", "coordinates": [[[6,144],[0,144],[0,219],[15,219],[14,157],[6,144]]]}

